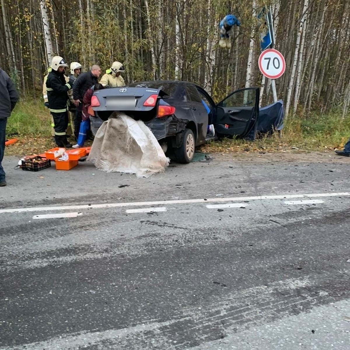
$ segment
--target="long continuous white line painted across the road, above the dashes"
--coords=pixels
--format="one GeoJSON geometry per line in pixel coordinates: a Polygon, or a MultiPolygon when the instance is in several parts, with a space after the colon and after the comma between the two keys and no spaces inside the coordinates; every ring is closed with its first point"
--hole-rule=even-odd
{"type": "Polygon", "coordinates": [[[103,203],[103,204],[82,204],[66,205],[63,207],[33,207],[33,208],[13,208],[0,209],[2,213],[20,213],[28,211],[49,211],[49,210],[82,210],[82,209],[101,209],[101,208],[120,208],[120,207],[140,207],[142,205],[167,205],[167,204],[190,204],[190,203],[208,203],[208,202],[237,202],[237,201],[257,201],[265,199],[290,199],[290,198],[315,198],[315,197],[339,197],[350,196],[350,192],[338,193],[311,193],[311,194],[294,194],[294,195],[269,195],[269,196],[250,196],[250,197],[229,197],[229,198],[198,198],[172,201],[155,201],[155,202],[129,202],[129,203],[103,203]]]}

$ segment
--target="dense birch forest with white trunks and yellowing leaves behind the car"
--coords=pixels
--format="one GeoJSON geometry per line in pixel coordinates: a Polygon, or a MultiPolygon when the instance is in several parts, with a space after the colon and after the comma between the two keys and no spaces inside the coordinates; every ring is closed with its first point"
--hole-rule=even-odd
{"type": "Polygon", "coordinates": [[[263,6],[272,7],[274,48],[286,60],[275,84],[288,117],[307,118],[312,111],[349,116],[349,0],[1,0],[0,67],[27,98],[42,98],[43,77],[59,55],[84,71],[120,61],[127,83],[195,82],[216,101],[260,86],[266,105],[273,96],[271,80],[258,68],[263,6]],[[241,26],[232,48],[222,49],[218,24],[228,13],[241,26]]]}

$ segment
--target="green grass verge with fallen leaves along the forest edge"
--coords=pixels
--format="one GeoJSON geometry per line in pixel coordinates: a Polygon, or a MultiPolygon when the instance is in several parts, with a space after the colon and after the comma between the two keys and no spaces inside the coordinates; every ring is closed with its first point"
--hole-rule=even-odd
{"type": "MultiPolygon", "coordinates": [[[[26,140],[50,139],[50,113],[42,100],[21,99],[7,124],[7,138],[26,140]]],[[[285,121],[282,137],[260,137],[251,142],[240,139],[223,139],[205,145],[208,152],[279,151],[296,147],[305,151],[341,149],[350,138],[350,118],[340,113],[320,115],[313,112],[307,118],[290,117],[285,121]]]]}

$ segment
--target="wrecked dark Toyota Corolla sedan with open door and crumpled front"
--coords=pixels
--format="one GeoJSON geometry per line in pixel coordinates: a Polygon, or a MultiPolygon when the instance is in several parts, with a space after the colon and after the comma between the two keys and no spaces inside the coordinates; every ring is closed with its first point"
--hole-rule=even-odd
{"type": "Polygon", "coordinates": [[[234,91],[216,104],[202,87],[193,83],[136,82],[95,91],[91,106],[102,120],[113,112],[142,120],[163,151],[180,163],[189,163],[196,146],[218,136],[253,140],[257,132],[283,127],[282,101],[263,107],[264,118],[259,118],[258,87],[234,91]]]}

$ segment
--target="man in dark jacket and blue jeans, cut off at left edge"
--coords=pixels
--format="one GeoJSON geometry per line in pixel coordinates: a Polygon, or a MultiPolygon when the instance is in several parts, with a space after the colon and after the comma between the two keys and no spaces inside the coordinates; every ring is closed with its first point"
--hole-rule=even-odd
{"type": "Polygon", "coordinates": [[[7,73],[0,68],[0,186],[6,186],[5,171],[1,162],[5,152],[7,118],[14,109],[18,98],[14,83],[7,73]]]}

